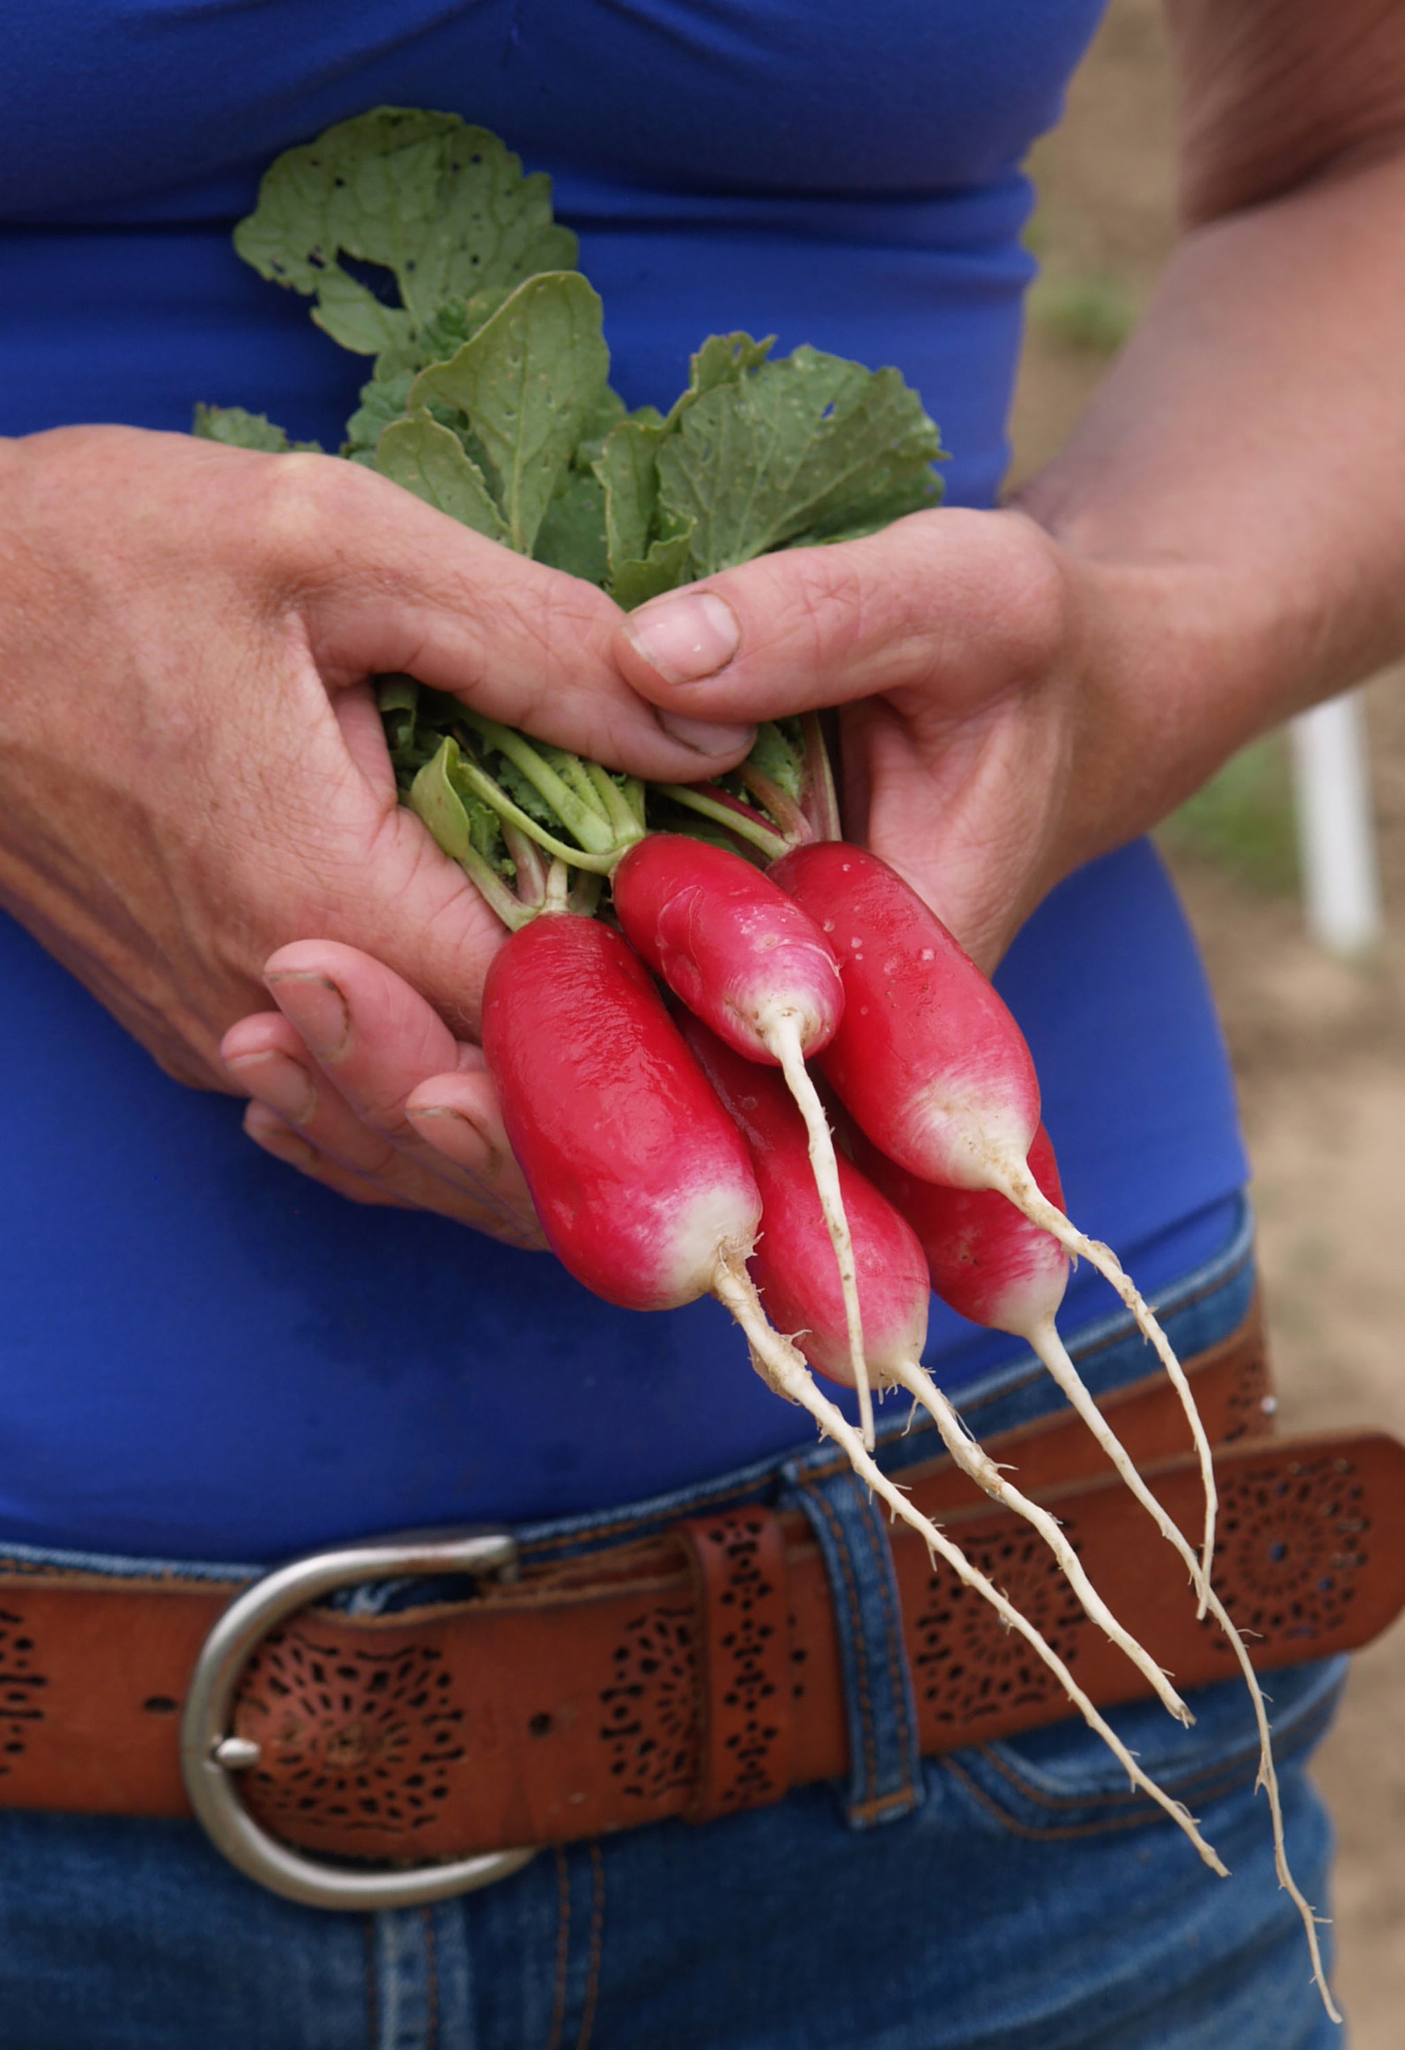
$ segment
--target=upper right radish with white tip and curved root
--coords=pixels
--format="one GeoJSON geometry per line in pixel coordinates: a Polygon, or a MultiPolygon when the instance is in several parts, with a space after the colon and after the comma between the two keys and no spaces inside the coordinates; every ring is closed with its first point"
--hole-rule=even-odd
{"type": "MultiPolygon", "coordinates": [[[[1155,1347],[1186,1410],[1206,1490],[1202,1556],[1194,1568],[1204,1615],[1216,1511],[1210,1441],[1181,1363],[1118,1257],[1079,1232],[1030,1171],[1040,1084],[1023,1033],[935,912],[886,861],[859,847],[816,843],[784,855],[771,877],[810,912],[839,957],[845,1011],[820,1068],[857,1125],[921,1181],[1009,1197],[1032,1224],[1112,1281],[1155,1347]]],[[[1054,1306],[1060,1298],[1062,1281],[1054,1306]]],[[[1052,1310],[1034,1320],[1028,1337],[1062,1386],[1071,1363],[1065,1367],[1067,1353],[1056,1332],[1048,1343],[1048,1332],[1052,1310]]]]}

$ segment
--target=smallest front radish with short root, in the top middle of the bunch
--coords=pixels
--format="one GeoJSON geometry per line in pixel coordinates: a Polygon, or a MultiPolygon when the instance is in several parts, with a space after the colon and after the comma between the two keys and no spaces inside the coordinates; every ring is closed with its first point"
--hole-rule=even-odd
{"type": "Polygon", "coordinates": [[[843,1017],[835,949],[794,898],[751,861],[675,832],[654,832],[613,871],[626,937],[675,996],[751,1062],[779,1066],[808,1134],[810,1173],[839,1269],[859,1429],[874,1445],[864,1322],[835,1142],[806,1056],[843,1017]]]}

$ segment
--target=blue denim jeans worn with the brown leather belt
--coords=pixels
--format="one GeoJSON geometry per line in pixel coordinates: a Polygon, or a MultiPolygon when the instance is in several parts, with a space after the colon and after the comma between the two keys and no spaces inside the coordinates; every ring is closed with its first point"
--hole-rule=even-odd
{"type": "MultiPolygon", "coordinates": [[[[1251,1285],[1245,1216],[1218,1259],[1163,1292],[1177,1349],[1231,1332],[1251,1285]]],[[[1071,1349],[1099,1392],[1149,1369],[1122,1316],[1071,1349]]],[[[985,1437],[1052,1404],[1030,1359],[962,1390],[985,1437]]],[[[900,1435],[902,1421],[884,1427],[894,1470],[931,1451],[921,1431],[900,1435]]],[[[827,1447],[806,1449],[624,1521],[669,1521],[704,1494],[769,1494],[802,1503],[831,1560],[845,1552],[861,1574],[866,1499],[843,1476],[816,1478],[829,1466],[827,1447]]],[[[603,1521],[521,1535],[527,1552],[585,1552],[603,1521]]],[[[1233,1870],[1214,1880],[1081,1722],[915,1759],[905,1683],[872,1683],[884,1599],[870,1572],[847,1626],[849,1781],[706,1827],[548,1849],[515,1878],[431,1909],[293,1906],[226,1865],[195,1824],[0,1812],[0,2050],[1341,2044],[1274,1880],[1239,1683],[1194,1697],[1194,1730],[1155,1704],[1112,1716],[1200,1814],[1233,1870]]],[[[1339,1660],[1272,1681],[1288,1849],[1319,1906],[1331,1835],[1304,1767],[1339,1685],[1339,1660]]]]}

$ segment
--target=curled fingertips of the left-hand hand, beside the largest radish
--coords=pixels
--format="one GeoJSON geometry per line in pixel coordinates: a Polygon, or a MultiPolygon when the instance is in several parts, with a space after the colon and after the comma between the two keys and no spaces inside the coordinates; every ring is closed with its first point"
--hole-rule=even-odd
{"type": "Polygon", "coordinates": [[[265,980],[279,1009],[240,1019],[222,1048],[254,1099],[244,1130],[256,1146],[355,1203],[546,1244],[476,1046],[355,947],[281,947],[265,980]]]}

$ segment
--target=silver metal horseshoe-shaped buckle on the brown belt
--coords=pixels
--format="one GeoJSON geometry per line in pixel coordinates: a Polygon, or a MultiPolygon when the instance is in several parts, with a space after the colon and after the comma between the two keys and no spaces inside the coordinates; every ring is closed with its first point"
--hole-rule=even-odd
{"type": "Polygon", "coordinates": [[[357,1872],[304,1857],[254,1822],[236,1775],[260,1747],[230,1732],[240,1675],[263,1636],[338,1587],[420,1574],[468,1572],[511,1578],[517,1540],[507,1529],[406,1531],[373,1544],[336,1546],[289,1560],[230,1603],[205,1638],[180,1720],[180,1771],[205,1835],[232,1865],[287,1900],[312,1909],[404,1909],[492,1886],[535,1857],[535,1845],[392,1872],[357,1872]]]}

